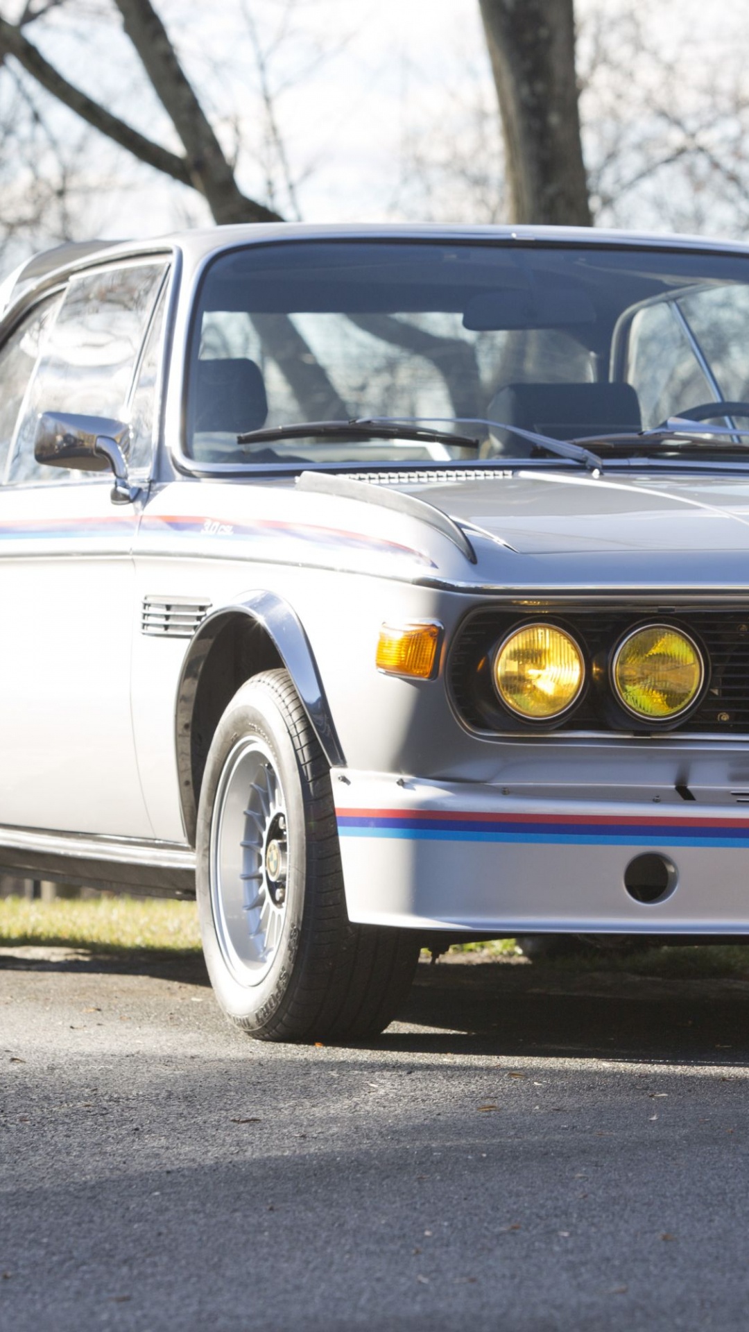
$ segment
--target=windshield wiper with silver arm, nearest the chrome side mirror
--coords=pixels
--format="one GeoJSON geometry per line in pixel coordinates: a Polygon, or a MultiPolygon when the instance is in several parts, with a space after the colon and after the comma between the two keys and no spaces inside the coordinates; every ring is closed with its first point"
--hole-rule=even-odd
{"type": "MultiPolygon", "coordinates": [[[[557,458],[568,458],[581,462],[596,474],[602,472],[604,464],[590,449],[582,448],[576,441],[553,440],[548,434],[537,434],[534,430],[522,430],[517,425],[508,425],[505,421],[489,421],[485,417],[356,417],[352,421],[300,421],[289,425],[272,426],[268,430],[248,430],[237,434],[237,444],[269,444],[273,440],[316,440],[341,438],[352,436],[359,440],[416,440],[425,444],[448,444],[458,448],[472,448],[478,450],[478,440],[462,434],[452,434],[446,430],[425,430],[422,422],[436,421],[437,425],[484,425],[494,426],[498,430],[508,430],[510,434],[528,440],[538,449],[554,454],[557,458]]],[[[486,462],[497,461],[488,458],[486,462]]],[[[517,462],[522,460],[502,457],[502,462],[517,462]]]]}

